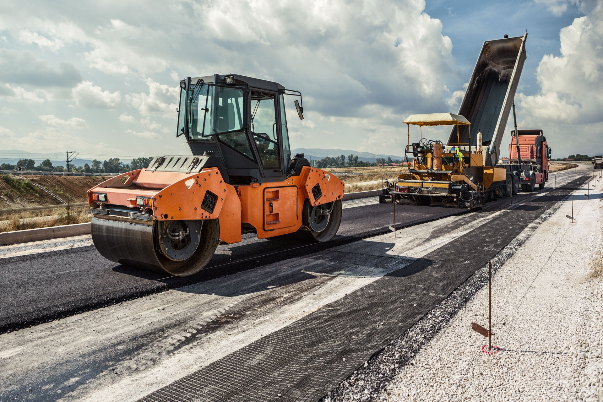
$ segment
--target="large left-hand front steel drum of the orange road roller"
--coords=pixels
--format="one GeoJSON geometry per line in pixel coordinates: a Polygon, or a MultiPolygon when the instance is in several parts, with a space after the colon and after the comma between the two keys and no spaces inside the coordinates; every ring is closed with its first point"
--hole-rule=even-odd
{"type": "Polygon", "coordinates": [[[181,277],[205,268],[219,242],[218,219],[145,225],[92,218],[91,231],[106,259],[181,277]]]}

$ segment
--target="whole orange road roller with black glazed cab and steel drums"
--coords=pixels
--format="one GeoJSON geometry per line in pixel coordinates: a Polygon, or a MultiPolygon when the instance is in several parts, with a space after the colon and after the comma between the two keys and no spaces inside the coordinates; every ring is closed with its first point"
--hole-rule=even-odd
{"type": "Polygon", "coordinates": [[[177,137],[192,155],[163,155],[148,168],[110,178],[87,193],[92,240],[107,259],[185,276],[207,266],[219,242],[302,231],[332,239],[344,183],[291,157],[285,96],[301,93],[242,75],[180,81],[177,137]]]}

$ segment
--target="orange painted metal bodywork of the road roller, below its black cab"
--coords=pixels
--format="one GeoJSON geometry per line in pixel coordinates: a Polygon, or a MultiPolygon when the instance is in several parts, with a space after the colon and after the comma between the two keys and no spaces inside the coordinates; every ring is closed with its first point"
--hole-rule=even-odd
{"type": "Polygon", "coordinates": [[[146,213],[152,216],[149,225],[153,220],[218,219],[219,239],[230,244],[240,242],[242,231],[250,229],[260,239],[293,233],[303,224],[306,199],[317,206],[342,199],[343,193],[343,181],[310,166],[284,181],[236,187],[225,183],[217,168],[198,173],[139,169],[93,187],[88,191],[88,203],[90,207],[112,204],[146,213]],[[212,210],[203,207],[206,192],[215,196],[212,210]],[[105,201],[94,199],[95,193],[104,194],[105,201]],[[140,206],[137,198],[152,201],[140,206]]]}

